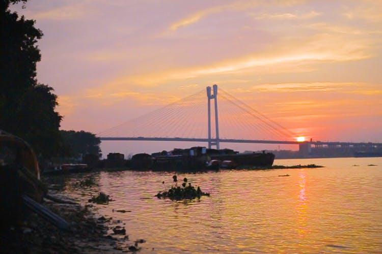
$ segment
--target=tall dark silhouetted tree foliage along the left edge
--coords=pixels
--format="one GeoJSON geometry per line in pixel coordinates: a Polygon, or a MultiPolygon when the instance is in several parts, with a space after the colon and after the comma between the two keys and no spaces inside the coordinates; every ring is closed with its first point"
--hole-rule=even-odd
{"type": "Polygon", "coordinates": [[[34,20],[9,10],[21,0],[0,1],[0,129],[28,141],[41,157],[60,151],[62,117],[53,88],[38,83],[36,43],[43,36],[34,20]]]}

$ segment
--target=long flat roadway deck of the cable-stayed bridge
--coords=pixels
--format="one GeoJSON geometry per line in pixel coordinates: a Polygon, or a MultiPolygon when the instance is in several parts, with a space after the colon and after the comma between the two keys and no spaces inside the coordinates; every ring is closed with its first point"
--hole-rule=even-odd
{"type": "MultiPolygon", "coordinates": [[[[192,141],[192,142],[208,142],[212,141],[215,142],[216,139],[204,139],[204,138],[145,138],[145,137],[100,137],[101,141],[122,141],[122,140],[135,140],[135,141],[192,141]]],[[[298,141],[275,141],[275,140],[245,140],[245,139],[219,139],[219,142],[222,143],[258,143],[258,144],[293,144],[293,145],[301,145],[304,143],[309,143],[311,145],[315,146],[368,146],[368,147],[382,147],[382,143],[355,143],[355,142],[321,142],[321,141],[304,141],[304,142],[298,142],[298,141]]]]}

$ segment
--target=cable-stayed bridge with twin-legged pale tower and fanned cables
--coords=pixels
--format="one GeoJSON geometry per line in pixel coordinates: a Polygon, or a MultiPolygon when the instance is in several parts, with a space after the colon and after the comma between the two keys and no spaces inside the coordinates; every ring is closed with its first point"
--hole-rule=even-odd
{"type": "MultiPolygon", "coordinates": [[[[220,148],[220,143],[375,146],[380,143],[296,141],[297,134],[243,103],[217,85],[126,121],[98,134],[102,141],[192,141],[220,148]],[[207,100],[206,100],[207,97],[207,100]],[[219,99],[219,100],[218,100],[219,99]]],[[[307,146],[308,145],[308,146],[307,146]]],[[[307,147],[307,148],[305,148],[307,147]]]]}

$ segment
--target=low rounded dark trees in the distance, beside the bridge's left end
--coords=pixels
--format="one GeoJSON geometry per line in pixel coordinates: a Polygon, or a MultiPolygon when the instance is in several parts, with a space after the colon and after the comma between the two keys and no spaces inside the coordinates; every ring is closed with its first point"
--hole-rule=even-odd
{"type": "Polygon", "coordinates": [[[62,155],[70,157],[79,157],[81,154],[95,154],[99,157],[101,149],[99,144],[101,140],[90,132],[80,131],[60,131],[64,151],[62,155]]]}

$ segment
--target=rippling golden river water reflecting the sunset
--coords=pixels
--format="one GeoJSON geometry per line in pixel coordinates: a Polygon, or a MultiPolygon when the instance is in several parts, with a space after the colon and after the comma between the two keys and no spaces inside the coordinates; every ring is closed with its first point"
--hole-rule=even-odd
{"type": "MultiPolygon", "coordinates": [[[[114,201],[97,213],[120,220],[130,240],[145,239],[143,253],[382,253],[382,157],[274,164],[324,168],[178,174],[210,193],[193,201],[154,197],[173,173],[98,172],[93,192],[114,201]]],[[[73,177],[68,186],[85,176],[73,177]]],[[[90,195],[66,192],[84,204],[90,195]]]]}

